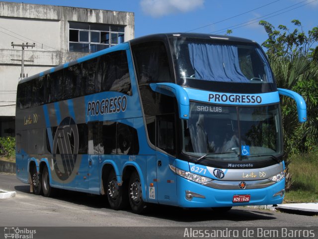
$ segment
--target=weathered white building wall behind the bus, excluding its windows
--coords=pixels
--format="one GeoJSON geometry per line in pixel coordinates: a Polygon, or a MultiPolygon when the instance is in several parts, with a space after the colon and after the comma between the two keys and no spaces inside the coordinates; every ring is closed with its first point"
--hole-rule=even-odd
{"type": "Polygon", "coordinates": [[[16,88],[21,72],[22,42],[25,49],[24,72],[35,75],[72,61],[84,53],[68,52],[69,21],[126,25],[125,41],[134,38],[134,13],[77,7],[26,4],[0,1],[0,116],[15,116],[16,88]],[[43,48],[42,48],[43,43],[43,48]]]}

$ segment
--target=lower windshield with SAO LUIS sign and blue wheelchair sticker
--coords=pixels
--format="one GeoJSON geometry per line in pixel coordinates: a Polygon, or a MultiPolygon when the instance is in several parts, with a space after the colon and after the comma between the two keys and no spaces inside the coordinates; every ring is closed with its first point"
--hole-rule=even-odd
{"type": "Polygon", "coordinates": [[[183,152],[208,160],[259,160],[281,154],[278,105],[229,107],[190,103],[183,152]]]}

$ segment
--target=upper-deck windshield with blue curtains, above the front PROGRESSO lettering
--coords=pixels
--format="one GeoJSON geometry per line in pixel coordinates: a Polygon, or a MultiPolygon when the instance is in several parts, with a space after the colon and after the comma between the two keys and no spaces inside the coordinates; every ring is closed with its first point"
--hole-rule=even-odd
{"type": "Polygon", "coordinates": [[[269,64],[257,44],[171,38],[179,79],[232,83],[273,83],[269,64]]]}

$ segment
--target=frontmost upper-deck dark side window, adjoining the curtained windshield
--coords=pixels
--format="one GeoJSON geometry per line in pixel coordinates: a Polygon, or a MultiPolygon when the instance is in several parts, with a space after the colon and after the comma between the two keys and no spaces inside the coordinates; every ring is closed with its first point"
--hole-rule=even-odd
{"type": "Polygon", "coordinates": [[[150,82],[173,82],[167,52],[162,42],[141,43],[132,46],[132,51],[140,85],[150,82]]]}

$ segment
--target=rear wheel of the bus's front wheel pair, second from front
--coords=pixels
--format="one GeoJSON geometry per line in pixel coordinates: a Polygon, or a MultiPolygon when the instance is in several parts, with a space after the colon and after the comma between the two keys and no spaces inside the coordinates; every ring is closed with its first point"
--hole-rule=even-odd
{"type": "Polygon", "coordinates": [[[109,172],[107,178],[107,199],[111,209],[120,210],[125,207],[125,198],[123,197],[123,187],[118,186],[116,173],[114,170],[109,172]]]}

